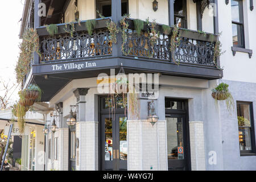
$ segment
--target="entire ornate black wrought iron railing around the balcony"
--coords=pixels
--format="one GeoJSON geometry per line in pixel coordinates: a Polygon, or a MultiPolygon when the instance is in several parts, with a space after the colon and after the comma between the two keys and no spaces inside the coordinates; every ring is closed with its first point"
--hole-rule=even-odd
{"type": "MultiPolygon", "coordinates": [[[[75,24],[77,31],[73,36],[64,31],[64,24],[59,25],[59,33],[54,36],[47,35],[45,27],[38,28],[42,54],[40,63],[112,56],[113,47],[116,45],[110,40],[108,29],[105,26],[106,21],[109,19],[97,20],[97,27],[94,28],[91,36],[85,25],[81,26],[82,22],[80,25],[75,24]]],[[[170,63],[173,63],[175,59],[181,64],[217,66],[213,62],[216,35],[180,29],[180,45],[175,49],[175,55],[172,56],[170,35],[162,33],[161,25],[156,26],[160,36],[155,46],[152,47],[148,34],[138,36],[134,30],[132,19],[129,19],[129,24],[127,41],[123,45],[124,52],[127,54],[122,53],[122,56],[136,56],[143,59],[170,61],[170,63]]],[[[117,41],[122,42],[121,36],[118,38],[117,41]]]]}

